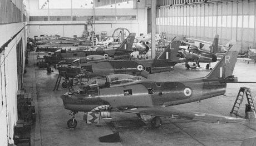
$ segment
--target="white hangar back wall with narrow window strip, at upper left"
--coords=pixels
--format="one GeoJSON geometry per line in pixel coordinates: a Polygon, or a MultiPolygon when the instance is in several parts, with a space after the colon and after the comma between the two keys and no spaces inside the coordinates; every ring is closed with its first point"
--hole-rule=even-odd
{"type": "MultiPolygon", "coordinates": [[[[73,1],[75,3],[76,1],[73,1]]],[[[125,2],[126,3],[126,2],[125,2]]],[[[112,36],[116,28],[124,27],[130,32],[147,33],[147,9],[145,3],[134,8],[115,9],[95,8],[93,9],[56,9],[39,8],[38,1],[27,0],[27,26],[28,36],[39,36],[40,34],[59,34],[65,37],[81,37],[85,29],[85,21],[91,16],[95,16],[96,24],[93,30],[96,34],[107,31],[108,36],[112,36]]]]}

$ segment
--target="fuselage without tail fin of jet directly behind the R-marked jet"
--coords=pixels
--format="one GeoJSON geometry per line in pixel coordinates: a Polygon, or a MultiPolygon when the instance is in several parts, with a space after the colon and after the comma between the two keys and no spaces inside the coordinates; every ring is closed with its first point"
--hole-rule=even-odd
{"type": "Polygon", "coordinates": [[[166,72],[173,69],[178,61],[160,59],[143,59],[132,61],[92,61],[87,63],[72,64],[73,67],[59,67],[58,71],[66,72],[68,77],[86,73],[88,77],[107,76],[117,73],[137,74],[144,69],[149,73],[166,72]],[[141,70],[138,67],[141,66],[141,70]],[[78,72],[79,71],[79,72],[78,72]]]}

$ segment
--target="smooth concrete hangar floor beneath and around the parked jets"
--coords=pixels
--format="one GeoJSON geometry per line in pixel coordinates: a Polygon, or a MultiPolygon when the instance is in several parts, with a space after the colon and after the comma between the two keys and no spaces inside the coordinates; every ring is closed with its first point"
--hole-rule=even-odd
{"type": "MultiPolygon", "coordinates": [[[[83,121],[83,113],[78,113],[76,129],[67,128],[70,119],[69,111],[63,108],[60,96],[67,89],[59,88],[53,92],[58,72],[47,74],[46,69],[34,67],[36,53],[29,55],[29,64],[24,86],[34,90],[36,102],[35,129],[32,133],[32,145],[240,145],[242,140],[256,137],[255,121],[251,120],[232,124],[215,124],[195,122],[191,120],[162,118],[163,125],[157,129],[114,128],[111,120],[136,119],[136,115],[127,113],[112,113],[111,120],[101,120],[100,124],[89,125],[83,121]],[[33,79],[34,78],[34,79],[33,79]],[[36,84],[33,85],[33,82],[36,84]],[[35,87],[34,87],[35,86],[35,87]],[[113,132],[120,132],[120,143],[100,143],[99,137],[113,132]]],[[[201,67],[206,64],[201,63],[201,67]]],[[[211,64],[212,66],[215,65],[211,64]]],[[[188,78],[203,77],[208,74],[206,69],[187,71],[183,64],[177,64],[174,71],[149,75],[152,80],[184,80],[188,78]]],[[[256,82],[256,64],[238,61],[234,75],[239,81],[256,82]]],[[[221,95],[210,99],[201,100],[174,107],[181,110],[195,112],[229,115],[240,87],[252,89],[253,97],[256,93],[255,84],[228,84],[226,96],[221,95]]],[[[245,102],[240,108],[244,115],[245,102]]]]}

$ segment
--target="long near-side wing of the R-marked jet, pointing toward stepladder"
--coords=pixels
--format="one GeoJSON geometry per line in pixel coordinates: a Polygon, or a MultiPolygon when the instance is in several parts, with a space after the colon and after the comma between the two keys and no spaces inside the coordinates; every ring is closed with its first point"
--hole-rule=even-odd
{"type": "Polygon", "coordinates": [[[215,115],[215,114],[206,114],[198,112],[184,112],[180,110],[173,110],[166,107],[154,107],[154,108],[139,108],[139,109],[129,109],[124,110],[125,113],[134,113],[134,114],[145,114],[145,115],[154,115],[159,117],[166,118],[178,118],[186,120],[198,120],[203,122],[212,122],[212,123],[235,123],[242,122],[243,118],[228,117],[224,115],[215,115]]]}

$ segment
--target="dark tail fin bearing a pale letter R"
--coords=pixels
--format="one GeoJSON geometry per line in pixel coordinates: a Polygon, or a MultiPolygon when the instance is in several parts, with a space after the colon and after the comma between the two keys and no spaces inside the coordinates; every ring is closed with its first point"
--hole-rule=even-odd
{"type": "Polygon", "coordinates": [[[228,49],[220,61],[216,64],[213,70],[206,75],[207,79],[227,78],[233,74],[239,47],[234,45],[228,49]]]}

